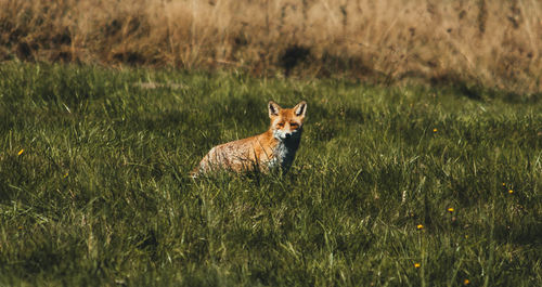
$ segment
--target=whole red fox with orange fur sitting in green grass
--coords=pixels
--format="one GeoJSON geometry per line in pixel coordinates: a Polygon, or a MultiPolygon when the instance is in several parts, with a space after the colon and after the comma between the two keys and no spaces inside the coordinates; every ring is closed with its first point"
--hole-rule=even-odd
{"type": "Polygon", "coordinates": [[[268,172],[279,168],[286,171],[301,141],[307,103],[302,101],[293,108],[282,108],[269,101],[268,109],[271,119],[268,131],[212,147],[191,177],[218,170],[268,172]]]}

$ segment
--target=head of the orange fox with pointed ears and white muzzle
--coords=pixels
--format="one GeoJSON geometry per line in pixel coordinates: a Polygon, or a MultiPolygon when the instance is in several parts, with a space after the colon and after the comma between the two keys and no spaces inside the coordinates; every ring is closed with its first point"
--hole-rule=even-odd
{"type": "Polygon", "coordinates": [[[269,101],[269,118],[271,118],[271,131],[279,141],[300,139],[307,112],[307,103],[300,102],[293,108],[282,108],[273,101],[269,101]]]}

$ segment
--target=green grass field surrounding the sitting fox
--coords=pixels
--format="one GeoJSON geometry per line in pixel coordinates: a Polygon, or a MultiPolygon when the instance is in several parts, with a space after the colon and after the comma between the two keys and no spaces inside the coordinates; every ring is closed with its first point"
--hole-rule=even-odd
{"type": "Polygon", "coordinates": [[[0,285],[540,286],[542,105],[457,91],[2,63],[0,285]],[[188,178],[270,99],[289,173],[188,178]]]}

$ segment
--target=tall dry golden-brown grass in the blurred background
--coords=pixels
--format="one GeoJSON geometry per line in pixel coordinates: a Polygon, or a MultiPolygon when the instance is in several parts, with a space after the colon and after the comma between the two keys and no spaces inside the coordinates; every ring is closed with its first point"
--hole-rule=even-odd
{"type": "Polygon", "coordinates": [[[0,0],[0,56],[540,93],[542,3],[0,0]]]}

